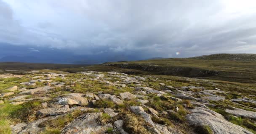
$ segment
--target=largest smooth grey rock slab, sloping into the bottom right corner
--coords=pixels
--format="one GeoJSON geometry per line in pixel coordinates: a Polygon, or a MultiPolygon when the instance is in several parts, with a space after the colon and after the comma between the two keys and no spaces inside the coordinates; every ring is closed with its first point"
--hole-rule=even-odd
{"type": "Polygon", "coordinates": [[[224,119],[224,117],[206,108],[195,107],[190,110],[191,114],[187,114],[186,119],[190,126],[203,127],[209,126],[214,134],[253,134],[241,126],[232,124],[224,119]]]}

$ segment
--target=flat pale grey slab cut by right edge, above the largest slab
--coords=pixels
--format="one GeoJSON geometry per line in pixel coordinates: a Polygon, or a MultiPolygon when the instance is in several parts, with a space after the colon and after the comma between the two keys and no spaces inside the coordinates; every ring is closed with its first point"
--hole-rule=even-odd
{"type": "Polygon", "coordinates": [[[233,114],[238,117],[245,117],[250,119],[256,119],[256,112],[246,111],[243,109],[235,108],[235,109],[226,109],[227,113],[233,114]]]}

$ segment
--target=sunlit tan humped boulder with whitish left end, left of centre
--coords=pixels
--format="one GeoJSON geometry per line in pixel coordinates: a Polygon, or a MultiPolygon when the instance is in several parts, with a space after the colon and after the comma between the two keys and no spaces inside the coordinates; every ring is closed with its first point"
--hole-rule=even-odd
{"type": "Polygon", "coordinates": [[[57,104],[60,104],[60,105],[74,105],[74,104],[77,104],[77,105],[80,105],[80,106],[86,106],[88,104],[88,101],[87,101],[86,98],[79,97],[79,95],[76,96],[76,97],[75,96],[74,96],[74,94],[73,95],[68,94],[67,96],[64,96],[64,97],[61,97],[61,98],[56,98],[57,104]]]}

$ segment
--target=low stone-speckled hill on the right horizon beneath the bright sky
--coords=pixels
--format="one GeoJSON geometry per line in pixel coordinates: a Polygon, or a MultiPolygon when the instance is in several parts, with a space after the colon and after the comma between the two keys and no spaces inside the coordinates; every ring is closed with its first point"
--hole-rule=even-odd
{"type": "Polygon", "coordinates": [[[211,54],[199,57],[191,57],[191,59],[256,61],[256,54],[211,54]]]}

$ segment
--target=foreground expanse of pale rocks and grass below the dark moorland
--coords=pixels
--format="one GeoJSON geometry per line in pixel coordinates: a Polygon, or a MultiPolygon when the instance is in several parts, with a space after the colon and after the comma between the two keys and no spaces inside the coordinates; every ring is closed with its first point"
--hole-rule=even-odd
{"type": "Polygon", "coordinates": [[[0,134],[256,134],[256,84],[119,72],[0,75],[0,134]]]}

